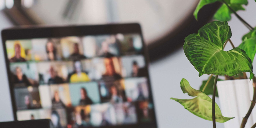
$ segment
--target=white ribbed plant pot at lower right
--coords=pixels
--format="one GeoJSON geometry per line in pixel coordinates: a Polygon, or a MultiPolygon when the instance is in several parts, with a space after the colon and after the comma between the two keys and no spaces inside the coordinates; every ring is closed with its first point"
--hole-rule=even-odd
{"type": "MultiPolygon", "coordinates": [[[[243,117],[248,112],[253,97],[252,80],[224,80],[217,81],[221,113],[225,117],[235,117],[224,123],[225,128],[239,128],[243,117]]],[[[256,106],[254,107],[246,128],[256,122],[256,106]]]]}

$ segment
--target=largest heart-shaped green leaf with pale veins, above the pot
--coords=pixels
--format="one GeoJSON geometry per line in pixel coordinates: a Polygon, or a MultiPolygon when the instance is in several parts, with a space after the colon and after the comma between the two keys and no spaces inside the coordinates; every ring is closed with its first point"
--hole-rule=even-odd
{"type": "Polygon", "coordinates": [[[231,37],[228,23],[214,21],[185,38],[184,52],[190,63],[202,74],[235,76],[250,72],[253,78],[251,59],[240,48],[223,51],[223,44],[231,37]]]}

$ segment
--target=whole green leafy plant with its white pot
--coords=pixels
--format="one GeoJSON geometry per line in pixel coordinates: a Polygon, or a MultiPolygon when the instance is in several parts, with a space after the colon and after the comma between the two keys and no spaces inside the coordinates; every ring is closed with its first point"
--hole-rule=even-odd
{"type": "Polygon", "coordinates": [[[208,23],[201,27],[198,33],[188,35],[183,46],[187,59],[199,72],[199,77],[203,74],[210,76],[208,80],[203,81],[200,90],[193,89],[186,79],[181,80],[180,87],[183,93],[188,93],[189,96],[195,98],[170,99],[179,102],[185,109],[200,118],[212,121],[214,128],[216,121],[224,123],[229,120],[230,123],[227,123],[225,127],[244,128],[248,119],[251,124],[248,123],[247,126],[254,128],[256,121],[252,123],[250,115],[256,100],[256,78],[252,73],[252,61],[256,53],[256,30],[236,13],[238,10],[244,10],[242,6],[247,5],[248,1],[200,0],[194,12],[195,18],[197,19],[197,13],[204,5],[214,2],[222,2],[222,6],[213,17],[218,21],[208,23]],[[230,40],[232,33],[227,21],[231,19],[231,13],[234,13],[250,30],[243,36],[242,43],[238,47],[235,47],[230,40]],[[225,51],[223,49],[228,42],[233,49],[225,51]],[[246,72],[250,73],[249,79],[247,79],[246,72]],[[218,76],[225,76],[226,80],[218,79],[218,76]],[[240,116],[233,119],[232,115],[229,117],[222,115],[219,106],[215,103],[217,86],[225,115],[231,113],[240,116]],[[210,94],[212,94],[212,99],[208,96],[210,94]],[[235,109],[237,111],[232,111],[235,109]]]}

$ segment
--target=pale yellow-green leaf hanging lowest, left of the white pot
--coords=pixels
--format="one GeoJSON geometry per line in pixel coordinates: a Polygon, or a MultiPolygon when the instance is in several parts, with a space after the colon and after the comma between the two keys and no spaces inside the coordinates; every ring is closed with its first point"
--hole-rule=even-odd
{"type": "MultiPolygon", "coordinates": [[[[183,93],[188,93],[189,96],[195,97],[193,99],[176,99],[170,98],[182,104],[189,112],[203,118],[205,120],[212,121],[212,99],[208,97],[204,92],[193,89],[186,79],[180,81],[180,88],[183,93]]],[[[215,103],[215,118],[217,122],[224,123],[233,118],[224,117],[221,114],[220,108],[215,103]]]]}

